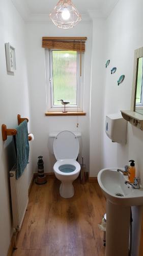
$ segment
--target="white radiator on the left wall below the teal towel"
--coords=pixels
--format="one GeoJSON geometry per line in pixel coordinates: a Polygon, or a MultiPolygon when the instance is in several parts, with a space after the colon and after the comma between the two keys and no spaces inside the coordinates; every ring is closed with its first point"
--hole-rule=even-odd
{"type": "Polygon", "coordinates": [[[16,165],[10,171],[13,228],[20,230],[28,204],[27,167],[16,180],[16,165]]]}

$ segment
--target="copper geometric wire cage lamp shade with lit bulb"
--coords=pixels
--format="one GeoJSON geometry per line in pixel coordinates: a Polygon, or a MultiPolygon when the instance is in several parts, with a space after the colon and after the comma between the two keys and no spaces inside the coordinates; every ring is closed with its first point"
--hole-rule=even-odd
{"type": "Polygon", "coordinates": [[[54,25],[61,29],[72,29],[81,21],[81,15],[71,0],[60,0],[49,17],[54,25]]]}

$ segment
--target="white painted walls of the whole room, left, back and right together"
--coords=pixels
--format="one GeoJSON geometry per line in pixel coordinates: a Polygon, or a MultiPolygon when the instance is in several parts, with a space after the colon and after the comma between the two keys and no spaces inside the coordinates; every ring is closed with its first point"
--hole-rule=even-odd
{"type": "MultiPolygon", "coordinates": [[[[32,170],[37,172],[37,157],[43,155],[45,172],[52,172],[55,162],[49,153],[48,134],[51,131],[78,130],[82,133],[82,155],[90,176],[97,176],[103,167],[119,167],[134,159],[138,175],[143,181],[143,132],[128,124],[127,145],[112,143],[104,132],[105,115],[122,109],[130,109],[134,50],[142,46],[142,0],[120,0],[104,19],[92,23],[80,23],[73,30],[60,30],[48,23],[24,24],[10,0],[0,2],[0,120],[8,127],[16,127],[17,114],[30,117],[28,83],[30,84],[31,113],[29,131],[35,135],[31,165],[28,165],[28,184],[32,170]],[[26,27],[26,31],[25,31],[26,27]],[[85,51],[85,86],[83,117],[46,117],[45,52],[41,47],[42,36],[87,36],[85,51]],[[27,44],[27,67],[25,56],[27,44]],[[16,48],[14,74],[6,70],[5,42],[16,48]],[[92,48],[93,47],[93,48],[92,48]],[[105,69],[105,62],[110,65],[105,69]],[[117,72],[110,75],[116,66],[117,72]],[[125,74],[125,81],[117,86],[117,80],[125,74]],[[92,79],[91,79],[92,78],[92,79]],[[32,164],[33,160],[33,164],[32,164]]],[[[11,138],[6,142],[0,136],[0,254],[6,255],[12,234],[10,191],[8,172],[13,165],[11,138]]]]}

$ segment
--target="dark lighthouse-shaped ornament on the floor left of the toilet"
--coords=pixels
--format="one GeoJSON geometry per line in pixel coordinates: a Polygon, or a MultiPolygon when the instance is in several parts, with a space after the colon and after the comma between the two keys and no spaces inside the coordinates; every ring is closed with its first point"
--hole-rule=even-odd
{"type": "Polygon", "coordinates": [[[36,184],[45,184],[47,182],[46,176],[44,174],[44,162],[43,162],[43,157],[39,156],[38,157],[38,177],[36,179],[36,184]]]}

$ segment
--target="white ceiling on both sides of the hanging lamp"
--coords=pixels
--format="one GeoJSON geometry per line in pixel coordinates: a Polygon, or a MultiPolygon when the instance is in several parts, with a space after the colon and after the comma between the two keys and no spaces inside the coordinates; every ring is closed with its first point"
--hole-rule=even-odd
{"type": "MultiPolygon", "coordinates": [[[[107,17],[119,0],[73,0],[83,17],[107,17]],[[91,14],[91,15],[90,15],[91,14]]],[[[48,15],[58,0],[12,0],[26,22],[49,21],[48,15]]]]}

